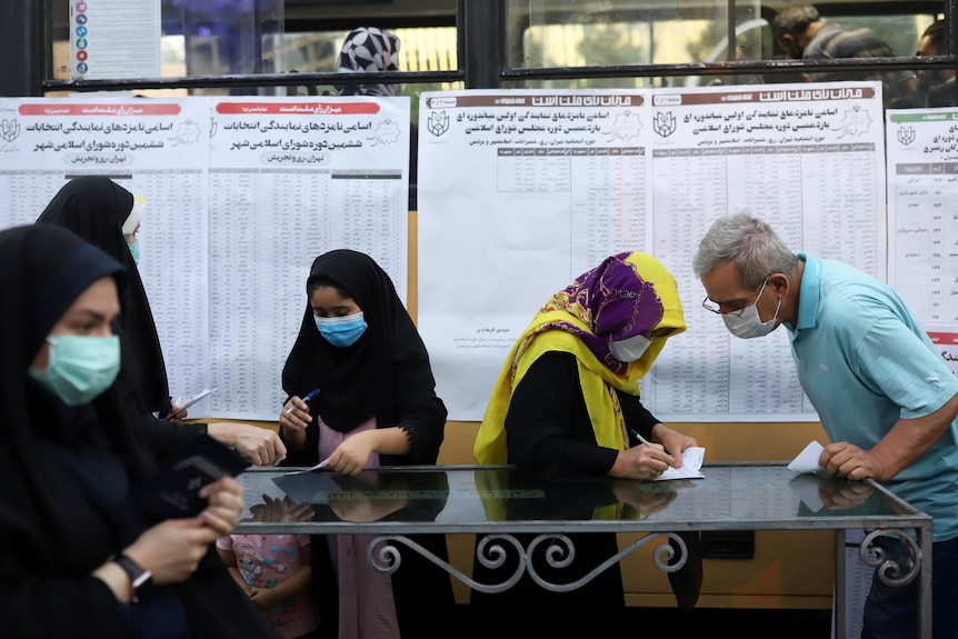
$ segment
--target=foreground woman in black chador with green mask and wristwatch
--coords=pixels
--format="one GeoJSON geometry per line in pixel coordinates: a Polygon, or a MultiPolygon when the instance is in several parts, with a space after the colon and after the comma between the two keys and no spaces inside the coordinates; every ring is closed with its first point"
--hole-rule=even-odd
{"type": "Polygon", "coordinates": [[[277,638],[210,545],[242,489],[199,516],[147,520],[157,462],[121,408],[111,326],[128,273],[52,226],[0,232],[0,619],[10,637],[277,638]]]}

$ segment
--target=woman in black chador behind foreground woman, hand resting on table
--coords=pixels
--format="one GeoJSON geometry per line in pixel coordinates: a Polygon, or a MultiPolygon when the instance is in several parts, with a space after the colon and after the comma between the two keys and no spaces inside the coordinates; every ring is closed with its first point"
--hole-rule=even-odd
{"type": "MultiPolygon", "coordinates": [[[[133,194],[102,176],[70,180],[50,200],[37,219],[38,224],[57,224],[77,233],[119,261],[127,272],[128,286],[120,293],[119,335],[122,342],[122,368],[118,386],[132,419],[162,458],[178,450],[198,432],[239,450],[251,463],[273,465],[286,456],[279,437],[269,429],[248,423],[176,423],[153,417],[166,417],[179,407],[170,403],[170,388],[163,351],[147,291],[123,228],[136,230],[131,220],[133,194]]],[[[178,417],[186,417],[186,411],[178,417]]]]}

